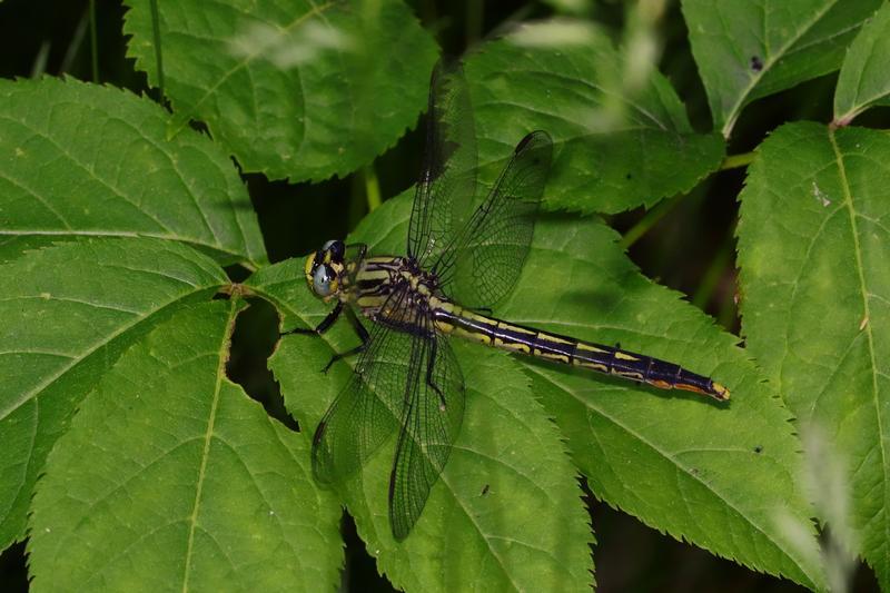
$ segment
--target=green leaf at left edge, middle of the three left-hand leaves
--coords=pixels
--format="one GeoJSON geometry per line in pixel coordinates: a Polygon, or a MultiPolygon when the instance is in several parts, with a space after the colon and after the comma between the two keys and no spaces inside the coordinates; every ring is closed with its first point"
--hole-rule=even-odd
{"type": "Polygon", "coordinates": [[[227,284],[181,244],[79,239],[0,265],[0,548],[22,537],[37,476],[83,396],[172,310],[227,284]]]}

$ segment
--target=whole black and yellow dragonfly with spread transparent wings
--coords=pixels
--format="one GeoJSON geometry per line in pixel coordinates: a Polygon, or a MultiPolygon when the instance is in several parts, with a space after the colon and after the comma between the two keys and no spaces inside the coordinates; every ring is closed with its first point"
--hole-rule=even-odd
{"type": "Polygon", "coordinates": [[[325,367],[358,356],[315,431],[313,474],[320,484],[345,481],[397,432],[388,508],[396,541],[419,518],[461,431],[465,384],[452,336],[664,389],[730,397],[723,385],[676,364],[491,315],[528,255],[553,142],[543,130],[522,138],[474,209],[473,126],[459,67],[437,66],[406,255],[372,256],[364,244],[327,241],[307,258],[305,274],[317,297],[336,304],[314,329],[291,332],[320,335],[345,315],[358,336],[357,347],[325,367]]]}

